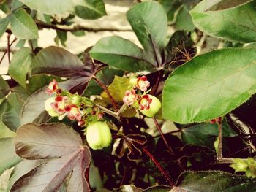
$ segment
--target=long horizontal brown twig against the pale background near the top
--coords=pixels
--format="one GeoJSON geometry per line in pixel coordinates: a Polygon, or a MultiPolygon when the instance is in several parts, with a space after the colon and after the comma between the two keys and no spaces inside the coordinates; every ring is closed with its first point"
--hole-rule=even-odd
{"type": "Polygon", "coordinates": [[[90,28],[90,27],[86,27],[86,26],[80,26],[80,25],[75,25],[72,27],[63,27],[63,26],[55,26],[52,24],[48,24],[48,23],[42,23],[40,21],[37,21],[37,26],[39,28],[51,28],[51,29],[55,29],[55,30],[59,30],[59,31],[64,31],[64,32],[75,32],[75,31],[88,31],[88,32],[101,32],[101,31],[121,31],[121,32],[130,32],[132,31],[132,29],[122,29],[122,28],[90,28]]]}

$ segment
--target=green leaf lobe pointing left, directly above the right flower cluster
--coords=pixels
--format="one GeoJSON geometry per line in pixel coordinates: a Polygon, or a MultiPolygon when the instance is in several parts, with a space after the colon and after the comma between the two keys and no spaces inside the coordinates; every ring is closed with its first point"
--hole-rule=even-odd
{"type": "Polygon", "coordinates": [[[90,51],[92,58],[127,72],[152,70],[153,66],[143,56],[143,50],[127,39],[105,37],[90,51]]]}

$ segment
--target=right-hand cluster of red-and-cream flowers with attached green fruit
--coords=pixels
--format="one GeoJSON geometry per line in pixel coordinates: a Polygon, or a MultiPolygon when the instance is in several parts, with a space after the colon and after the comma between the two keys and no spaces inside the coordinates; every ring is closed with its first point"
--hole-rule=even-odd
{"type": "Polygon", "coordinates": [[[161,108],[161,102],[155,96],[148,94],[150,82],[147,77],[130,77],[129,84],[132,86],[132,90],[125,91],[124,104],[138,108],[143,115],[154,117],[161,108]]]}

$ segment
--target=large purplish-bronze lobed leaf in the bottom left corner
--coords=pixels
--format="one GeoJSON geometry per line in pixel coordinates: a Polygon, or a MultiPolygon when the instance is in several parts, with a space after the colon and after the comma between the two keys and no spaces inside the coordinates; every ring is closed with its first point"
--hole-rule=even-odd
{"type": "Polygon", "coordinates": [[[68,126],[21,126],[15,137],[15,150],[23,158],[48,161],[20,177],[11,191],[57,191],[67,177],[67,191],[90,190],[85,176],[91,158],[89,147],[83,147],[80,135],[68,126]]]}

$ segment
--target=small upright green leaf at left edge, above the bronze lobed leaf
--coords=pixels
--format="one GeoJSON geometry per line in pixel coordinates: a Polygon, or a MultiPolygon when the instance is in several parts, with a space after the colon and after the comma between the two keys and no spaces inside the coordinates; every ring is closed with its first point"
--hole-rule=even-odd
{"type": "Polygon", "coordinates": [[[7,110],[2,116],[3,122],[12,131],[16,131],[20,126],[20,114],[24,101],[20,99],[18,93],[11,93],[7,100],[7,110]]]}

